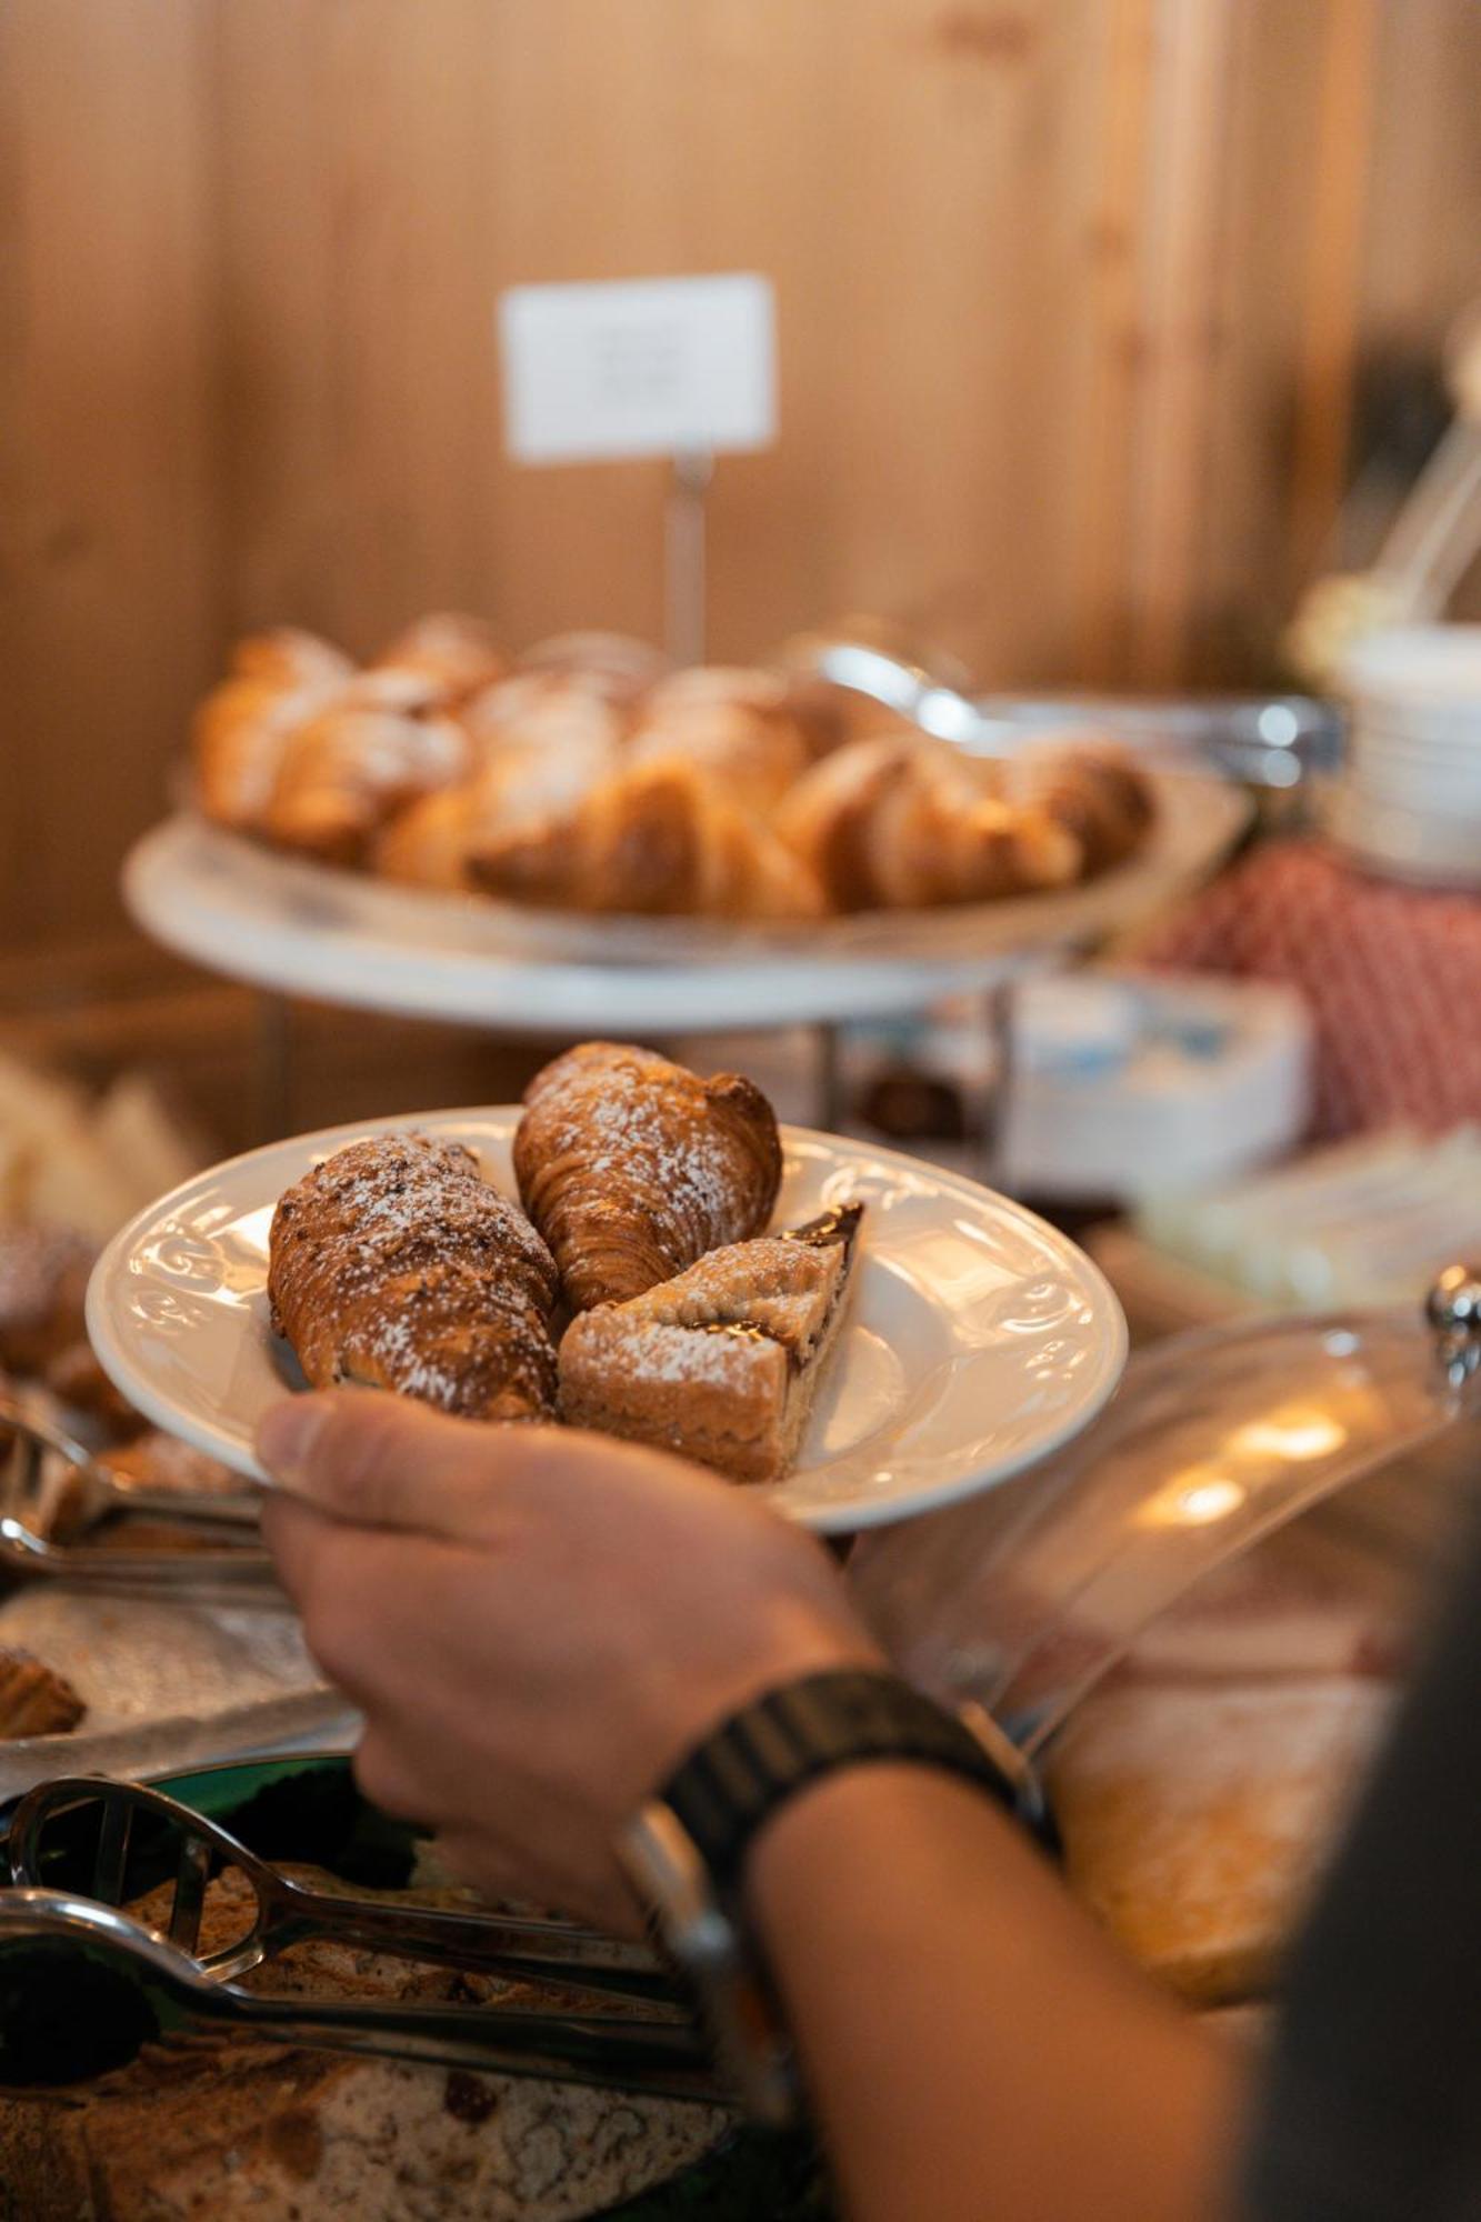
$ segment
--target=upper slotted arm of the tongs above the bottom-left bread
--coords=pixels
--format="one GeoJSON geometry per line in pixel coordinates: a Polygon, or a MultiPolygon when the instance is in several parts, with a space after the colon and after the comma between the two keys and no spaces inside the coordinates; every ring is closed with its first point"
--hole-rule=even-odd
{"type": "Polygon", "coordinates": [[[96,1826],[89,1898],[118,1906],[129,1889],[129,1842],[136,1824],[160,1831],[173,1860],[169,1942],[213,1982],[245,1975],[265,1960],[309,1938],[429,1960],[509,1982],[547,1984],[676,2006],[678,1993],[640,1946],[623,1946],[574,1922],[514,1913],[465,1913],[438,1906],[389,1906],[380,1900],[316,1891],[278,1873],[227,1829],[165,1791],[105,1775],[58,1775],[38,1784],[11,1815],[7,1855],[11,1878],[44,1889],[67,1862],[78,1873],[78,1840],[96,1826]],[[71,1824],[62,1829],[62,1824],[71,1824]],[[254,1893],[249,1926],[218,1951],[200,1951],[200,1922],[209,1882],[236,1871],[254,1893]]]}

